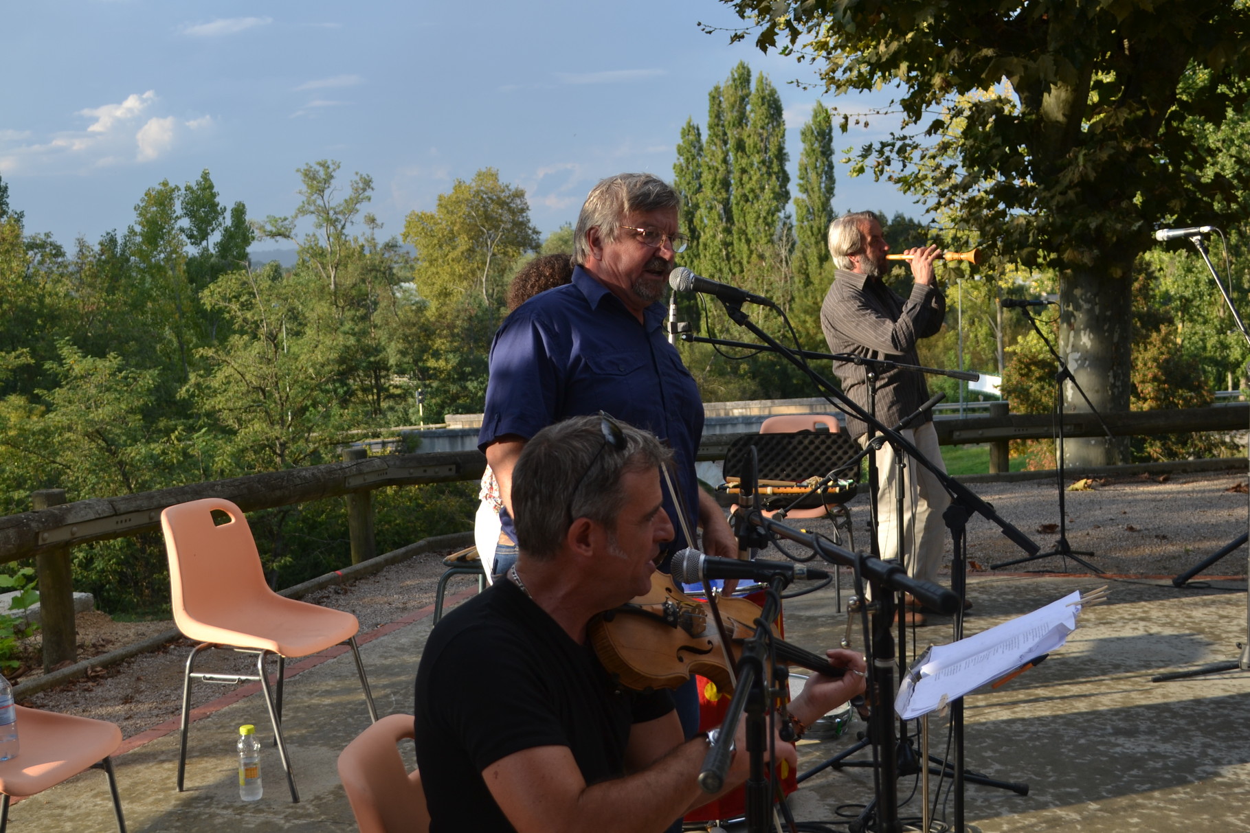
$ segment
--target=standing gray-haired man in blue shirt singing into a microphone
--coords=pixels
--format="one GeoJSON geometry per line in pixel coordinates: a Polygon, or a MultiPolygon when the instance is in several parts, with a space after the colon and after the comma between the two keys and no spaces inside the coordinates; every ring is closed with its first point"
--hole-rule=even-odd
{"type": "MultiPolygon", "coordinates": [[[[702,528],[704,552],[734,558],[729,523],[695,477],[699,387],[662,327],[660,298],[686,246],[679,205],[678,192],[650,174],[620,174],[591,190],[574,231],[572,282],[522,303],[495,335],[478,447],[510,515],[512,467],[525,442],[568,417],[605,411],[669,442],[680,498],[665,493],[665,511],[702,528]]],[[[695,546],[674,526],[671,551],[695,546]]],[[[496,563],[495,572],[506,567],[496,563]]]]}

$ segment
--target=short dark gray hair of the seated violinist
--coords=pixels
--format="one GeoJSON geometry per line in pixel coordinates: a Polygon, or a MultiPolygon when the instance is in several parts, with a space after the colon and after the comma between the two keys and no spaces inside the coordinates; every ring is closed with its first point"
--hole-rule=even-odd
{"type": "Polygon", "coordinates": [[[590,518],[615,533],[628,497],[622,476],[655,471],[672,458],[654,435],[624,422],[616,425],[625,448],[610,447],[601,420],[600,415],[572,417],[542,428],[525,443],[512,470],[512,508],[516,545],[528,556],[554,558],[572,518],[590,518]]]}

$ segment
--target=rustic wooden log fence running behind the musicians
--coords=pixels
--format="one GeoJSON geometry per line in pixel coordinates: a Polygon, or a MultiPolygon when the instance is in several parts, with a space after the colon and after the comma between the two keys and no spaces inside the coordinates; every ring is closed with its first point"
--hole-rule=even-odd
{"type": "MultiPolygon", "coordinates": [[[[990,471],[1008,471],[1010,440],[1051,436],[1046,415],[1009,413],[1005,402],[991,403],[991,413],[935,421],[942,445],[990,443],[990,471]]],[[[1250,405],[1235,402],[1184,411],[1132,411],[1105,415],[1116,436],[1239,431],[1250,425],[1250,405]]],[[[1069,437],[1096,437],[1102,430],[1089,413],[1068,412],[1069,437]]],[[[705,435],[699,461],[724,460],[740,433],[705,435]]],[[[479,451],[404,453],[366,457],[364,448],[348,448],[346,460],[321,466],[264,472],[221,481],[190,483],[138,495],[65,502],[64,490],[32,495],[35,510],[0,517],[0,562],[35,557],[44,619],[44,663],[50,668],[74,659],[74,606],[70,548],[92,541],[156,530],[168,506],[204,497],[222,497],[245,512],[291,506],[328,497],[344,497],[351,540],[351,562],[374,555],[371,492],[384,486],[419,486],[476,480],[486,466],[479,451]],[[51,657],[49,656],[51,648],[51,657]]]]}

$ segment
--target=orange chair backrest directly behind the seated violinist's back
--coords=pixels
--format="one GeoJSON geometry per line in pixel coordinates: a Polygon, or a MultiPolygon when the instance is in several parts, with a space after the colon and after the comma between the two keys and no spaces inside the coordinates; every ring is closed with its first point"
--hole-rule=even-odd
{"type": "Polygon", "coordinates": [[[411,714],[390,714],[339,753],[339,781],[360,833],[426,833],[430,814],[421,774],[408,772],[398,743],[415,737],[411,714]]]}

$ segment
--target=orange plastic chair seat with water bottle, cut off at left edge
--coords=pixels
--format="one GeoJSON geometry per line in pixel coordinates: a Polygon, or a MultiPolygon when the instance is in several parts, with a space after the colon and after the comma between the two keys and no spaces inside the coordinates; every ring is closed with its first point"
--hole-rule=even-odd
{"type": "Polygon", "coordinates": [[[9,826],[10,798],[41,793],[92,767],[104,769],[109,776],[118,829],[126,833],[126,819],[121,816],[121,799],[118,797],[118,779],[109,758],[121,746],[121,729],[106,721],[92,721],[89,717],[41,712],[21,706],[15,708],[20,748],[15,757],[0,761],[0,793],[4,793],[0,833],[9,826]]]}

